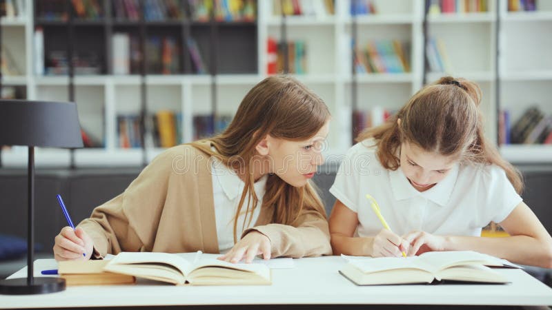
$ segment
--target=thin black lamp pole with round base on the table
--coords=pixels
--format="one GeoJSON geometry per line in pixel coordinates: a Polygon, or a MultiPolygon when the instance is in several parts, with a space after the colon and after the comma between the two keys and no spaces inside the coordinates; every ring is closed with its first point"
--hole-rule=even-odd
{"type": "Polygon", "coordinates": [[[54,293],[65,289],[65,279],[34,278],[34,147],[28,156],[28,214],[27,214],[27,278],[0,280],[0,294],[26,295],[54,293]]]}

